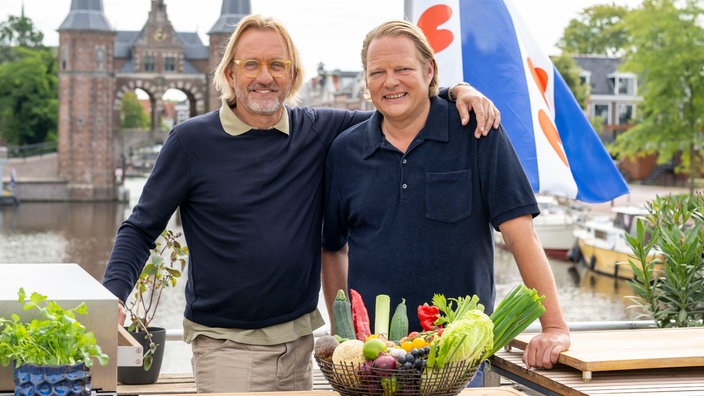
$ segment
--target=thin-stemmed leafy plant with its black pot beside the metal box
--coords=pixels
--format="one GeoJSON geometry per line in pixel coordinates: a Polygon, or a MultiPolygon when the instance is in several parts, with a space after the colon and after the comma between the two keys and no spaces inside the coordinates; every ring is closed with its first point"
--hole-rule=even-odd
{"type": "Polygon", "coordinates": [[[159,378],[164,355],[166,329],[151,326],[166,288],[176,286],[186,267],[188,248],[178,241],[181,233],[164,230],[156,240],[149,261],[125,303],[129,331],[144,348],[142,367],[118,367],[122,384],[152,384],[159,378]]]}

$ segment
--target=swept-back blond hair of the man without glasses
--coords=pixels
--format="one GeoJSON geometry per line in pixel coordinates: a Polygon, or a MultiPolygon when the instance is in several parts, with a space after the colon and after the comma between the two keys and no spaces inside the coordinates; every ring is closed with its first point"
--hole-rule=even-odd
{"type": "Polygon", "coordinates": [[[428,39],[425,37],[425,34],[423,34],[423,31],[416,25],[405,20],[392,20],[384,22],[367,33],[367,36],[364,38],[364,42],[362,43],[362,68],[365,75],[364,81],[366,82],[367,80],[367,53],[369,52],[369,44],[378,38],[399,36],[408,37],[415,43],[418,56],[423,64],[427,65],[428,62],[432,62],[434,73],[432,80],[430,80],[428,96],[437,96],[439,90],[439,80],[438,63],[435,61],[435,53],[433,53],[433,49],[430,47],[430,43],[428,43],[428,39]]]}

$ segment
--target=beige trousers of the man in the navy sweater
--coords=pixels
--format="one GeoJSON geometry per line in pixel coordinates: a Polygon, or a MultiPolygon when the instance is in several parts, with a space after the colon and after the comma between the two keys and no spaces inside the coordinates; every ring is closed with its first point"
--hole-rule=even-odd
{"type": "Polygon", "coordinates": [[[200,335],[191,349],[198,393],[313,388],[313,335],[278,345],[240,344],[200,335]]]}

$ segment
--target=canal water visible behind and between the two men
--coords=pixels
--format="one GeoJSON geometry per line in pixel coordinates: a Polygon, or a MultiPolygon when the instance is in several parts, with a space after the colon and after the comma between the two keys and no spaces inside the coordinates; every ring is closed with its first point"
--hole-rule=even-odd
{"type": "MultiPolygon", "coordinates": [[[[78,263],[101,280],[122,220],[136,204],[144,179],[128,178],[129,203],[30,203],[0,209],[0,265],[3,263],[78,263]]],[[[175,218],[169,225],[177,229],[175,218]]],[[[568,322],[633,320],[625,281],[584,273],[571,263],[552,260],[564,315],[568,322]]],[[[0,267],[0,276],[2,267],[0,267]]],[[[497,298],[521,282],[510,253],[496,250],[497,298]]],[[[181,329],[183,286],[167,290],[154,325],[181,329]]],[[[325,304],[320,298],[324,313],[325,304]]],[[[169,342],[162,372],[190,372],[190,347],[169,342]]]]}

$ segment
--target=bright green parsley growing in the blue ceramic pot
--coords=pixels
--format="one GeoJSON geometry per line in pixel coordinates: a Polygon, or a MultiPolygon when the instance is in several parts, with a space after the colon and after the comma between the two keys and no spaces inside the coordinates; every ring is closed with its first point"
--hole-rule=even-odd
{"type": "Polygon", "coordinates": [[[33,292],[29,298],[23,288],[18,291],[24,310],[36,309],[40,319],[23,322],[16,313],[11,319],[0,318],[0,364],[7,367],[11,361],[15,366],[74,365],[84,363],[92,366],[93,359],[101,365],[108,363],[108,355],[97,344],[93,332],[76,320],[76,314],[85,315],[87,306],[79,304],[64,309],[47,297],[33,292]]]}

